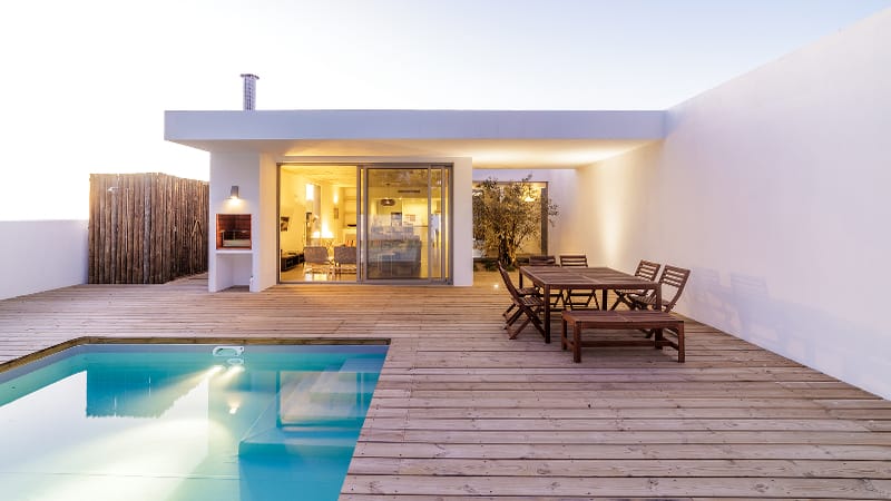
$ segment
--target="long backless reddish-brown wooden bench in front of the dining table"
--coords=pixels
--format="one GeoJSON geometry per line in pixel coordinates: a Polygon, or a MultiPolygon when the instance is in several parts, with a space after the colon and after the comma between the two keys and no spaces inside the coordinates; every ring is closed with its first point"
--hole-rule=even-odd
{"type": "Polygon", "coordinates": [[[562,331],[560,345],[564,350],[572,348],[572,361],[581,362],[582,346],[672,346],[677,350],[677,362],[684,362],[684,321],[672,316],[669,313],[653,310],[633,311],[565,311],[562,314],[562,331]],[[572,328],[571,338],[567,328],[572,328]],[[582,328],[634,328],[655,332],[653,340],[628,341],[581,341],[582,328]],[[663,330],[669,328],[677,334],[677,342],[665,338],[663,330]]]}

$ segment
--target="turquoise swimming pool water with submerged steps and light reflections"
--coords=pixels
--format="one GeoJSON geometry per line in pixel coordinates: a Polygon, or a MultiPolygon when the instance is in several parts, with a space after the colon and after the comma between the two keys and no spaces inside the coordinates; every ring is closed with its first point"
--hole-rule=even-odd
{"type": "Polygon", "coordinates": [[[386,346],[76,346],[0,373],[0,499],[336,500],[386,346]]]}

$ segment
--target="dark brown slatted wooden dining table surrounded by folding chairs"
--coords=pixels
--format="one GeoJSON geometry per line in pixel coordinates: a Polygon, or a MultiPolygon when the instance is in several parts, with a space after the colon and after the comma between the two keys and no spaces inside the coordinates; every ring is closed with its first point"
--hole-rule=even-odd
{"type": "Polygon", "coordinates": [[[595,294],[597,291],[601,291],[603,301],[600,302],[600,307],[604,310],[607,308],[607,291],[615,289],[655,291],[655,304],[662,304],[662,287],[659,287],[658,282],[647,281],[607,267],[521,266],[520,287],[522,287],[523,277],[541,289],[541,296],[545,302],[546,343],[550,343],[551,291],[591,291],[595,294]]]}

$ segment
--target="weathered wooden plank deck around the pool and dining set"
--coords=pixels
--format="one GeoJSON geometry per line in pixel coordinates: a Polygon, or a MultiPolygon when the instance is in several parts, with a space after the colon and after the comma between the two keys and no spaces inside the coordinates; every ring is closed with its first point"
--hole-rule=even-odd
{"type": "Polygon", "coordinates": [[[390,338],[343,500],[891,499],[891,402],[695,322],[684,364],[574,364],[507,340],[497,281],[76,286],[0,301],[0,362],[80,336],[390,338]]]}

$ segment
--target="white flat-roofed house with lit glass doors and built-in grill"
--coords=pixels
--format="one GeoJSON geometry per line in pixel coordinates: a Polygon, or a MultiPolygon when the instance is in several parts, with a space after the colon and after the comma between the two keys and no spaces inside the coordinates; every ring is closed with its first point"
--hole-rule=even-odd
{"type": "Polygon", "coordinates": [[[336,272],[342,282],[466,286],[473,279],[471,187],[483,169],[549,177],[660,140],[664,116],[168,111],[165,130],[170,141],[210,153],[210,291],[262,291],[290,282],[297,264],[298,282],[336,272]],[[238,234],[247,226],[249,236],[238,234]],[[326,262],[319,263],[322,246],[326,262]],[[335,253],[352,254],[342,263],[335,253]]]}

